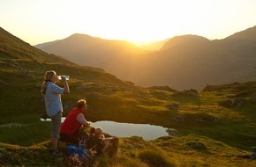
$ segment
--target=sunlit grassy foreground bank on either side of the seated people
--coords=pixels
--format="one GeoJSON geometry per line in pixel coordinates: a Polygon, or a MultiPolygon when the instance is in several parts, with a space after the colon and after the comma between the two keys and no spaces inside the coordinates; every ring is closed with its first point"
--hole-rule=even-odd
{"type": "MultiPolygon", "coordinates": [[[[51,156],[50,143],[29,147],[0,143],[0,165],[67,166],[68,156],[51,156]]],[[[205,136],[163,136],[146,142],[133,136],[122,138],[117,157],[97,156],[92,166],[256,166],[243,156],[250,152],[232,148],[205,136]]]]}

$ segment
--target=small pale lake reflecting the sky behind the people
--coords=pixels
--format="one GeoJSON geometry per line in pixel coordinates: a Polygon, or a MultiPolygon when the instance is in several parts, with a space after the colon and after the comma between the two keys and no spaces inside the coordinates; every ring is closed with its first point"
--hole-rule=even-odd
{"type": "MultiPolygon", "coordinates": [[[[62,118],[62,122],[64,121],[62,118]]],[[[50,121],[42,120],[41,121],[50,121]]],[[[101,120],[91,122],[93,127],[102,127],[103,132],[106,134],[114,135],[117,137],[131,137],[133,135],[140,136],[146,141],[154,140],[158,137],[166,135],[175,135],[177,130],[174,128],[166,128],[161,126],[154,126],[149,124],[132,124],[132,123],[119,123],[109,120],[101,120]]]]}

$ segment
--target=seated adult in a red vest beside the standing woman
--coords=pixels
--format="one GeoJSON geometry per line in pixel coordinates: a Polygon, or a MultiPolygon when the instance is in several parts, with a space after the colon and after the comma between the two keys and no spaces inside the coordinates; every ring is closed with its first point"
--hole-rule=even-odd
{"type": "Polygon", "coordinates": [[[84,114],[87,110],[87,101],[80,99],[77,107],[73,108],[68,114],[64,123],[60,127],[60,140],[72,144],[79,144],[79,127],[89,126],[90,123],[85,119],[84,114]]]}

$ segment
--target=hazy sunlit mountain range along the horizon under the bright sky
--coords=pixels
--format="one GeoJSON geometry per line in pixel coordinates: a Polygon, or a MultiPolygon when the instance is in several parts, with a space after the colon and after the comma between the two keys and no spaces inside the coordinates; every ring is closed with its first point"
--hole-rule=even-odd
{"type": "Polygon", "coordinates": [[[35,47],[79,65],[105,69],[141,86],[202,89],[207,84],[256,79],[256,26],[222,40],[191,34],[176,36],[154,43],[152,49],[86,34],[73,34],[35,47]]]}

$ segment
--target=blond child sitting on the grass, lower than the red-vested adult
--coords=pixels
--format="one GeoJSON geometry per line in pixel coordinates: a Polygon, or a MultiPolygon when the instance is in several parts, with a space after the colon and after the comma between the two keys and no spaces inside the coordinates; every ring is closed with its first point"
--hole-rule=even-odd
{"type": "Polygon", "coordinates": [[[96,155],[109,152],[111,154],[109,156],[115,156],[117,155],[117,145],[117,137],[106,138],[104,134],[102,134],[102,127],[95,127],[94,134],[90,137],[87,143],[87,149],[95,150],[96,155]]]}

